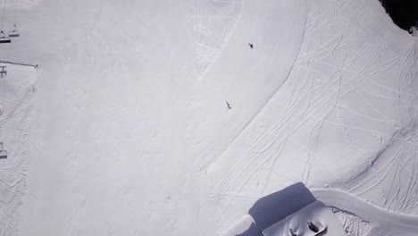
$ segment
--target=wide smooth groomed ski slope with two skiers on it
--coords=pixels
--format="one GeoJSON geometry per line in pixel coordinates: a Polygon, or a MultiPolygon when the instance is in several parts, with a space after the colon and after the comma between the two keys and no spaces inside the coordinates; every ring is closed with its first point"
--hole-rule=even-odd
{"type": "Polygon", "coordinates": [[[216,233],[204,166],[287,78],[305,1],[76,0],[56,9],[61,41],[42,66],[21,235],[216,233]],[[199,22],[198,13],[237,19],[199,22]],[[212,33],[196,37],[196,24],[212,33]],[[207,72],[201,44],[219,54],[207,72]]]}

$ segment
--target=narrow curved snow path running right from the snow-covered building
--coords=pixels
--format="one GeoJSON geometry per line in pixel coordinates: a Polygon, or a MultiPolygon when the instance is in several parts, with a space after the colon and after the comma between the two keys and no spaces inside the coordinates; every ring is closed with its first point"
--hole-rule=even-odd
{"type": "Polygon", "coordinates": [[[327,206],[335,206],[358,217],[403,232],[418,232],[418,216],[403,215],[374,206],[341,190],[313,190],[314,197],[327,206]]]}

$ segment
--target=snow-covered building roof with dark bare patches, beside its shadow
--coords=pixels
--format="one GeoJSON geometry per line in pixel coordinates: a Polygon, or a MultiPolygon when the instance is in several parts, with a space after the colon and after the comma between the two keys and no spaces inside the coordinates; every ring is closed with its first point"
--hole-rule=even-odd
{"type": "Polygon", "coordinates": [[[330,208],[321,201],[305,206],[297,213],[289,215],[284,220],[273,224],[263,230],[264,236],[347,236],[337,217],[331,212],[330,208]],[[310,229],[308,223],[313,223],[316,229],[310,229]]]}

